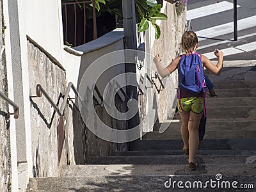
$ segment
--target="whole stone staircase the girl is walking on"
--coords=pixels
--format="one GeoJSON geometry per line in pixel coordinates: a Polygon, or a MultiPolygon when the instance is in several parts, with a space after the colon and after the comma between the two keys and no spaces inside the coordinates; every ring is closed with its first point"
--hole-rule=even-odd
{"type": "Polygon", "coordinates": [[[86,165],[67,166],[61,177],[30,179],[27,190],[164,191],[170,187],[172,191],[255,191],[256,81],[214,84],[219,97],[206,99],[207,127],[196,156],[200,164],[196,171],[188,169],[188,156],[181,150],[180,121],[175,120],[162,134],[156,124],[136,151],[92,157],[86,165]],[[178,187],[179,181],[184,188],[178,187]],[[207,188],[193,188],[194,181],[207,188]],[[186,188],[185,182],[192,188],[186,188]],[[230,189],[225,186],[228,182],[230,189]],[[244,188],[253,184],[254,189],[241,189],[240,184],[246,184],[244,188]]]}

